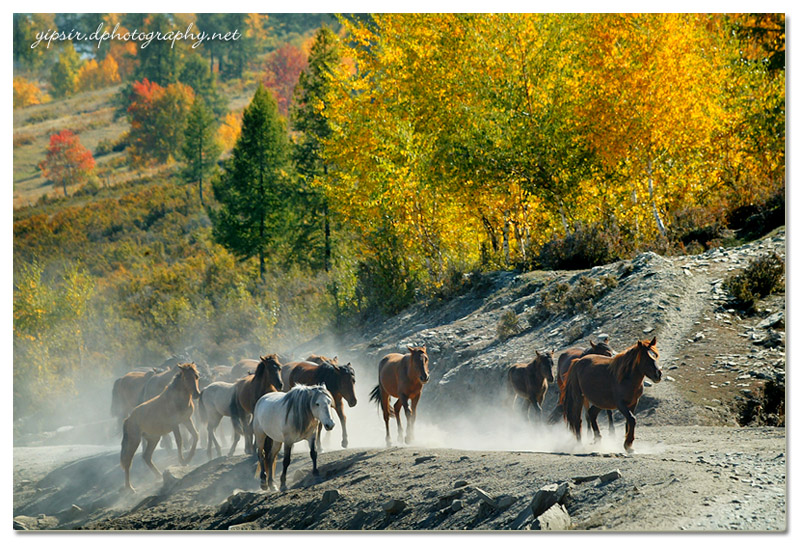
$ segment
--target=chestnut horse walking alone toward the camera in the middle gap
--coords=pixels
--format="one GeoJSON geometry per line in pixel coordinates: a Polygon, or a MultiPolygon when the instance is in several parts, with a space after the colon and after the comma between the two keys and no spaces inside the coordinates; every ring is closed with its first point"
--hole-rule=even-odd
{"type": "Polygon", "coordinates": [[[400,424],[400,408],[406,413],[408,432],[406,443],[414,440],[414,421],[417,419],[417,403],[422,387],[430,379],[428,372],[428,353],[424,346],[408,347],[408,354],[387,354],[378,364],[378,385],[370,392],[370,400],[380,403],[383,422],[386,426],[386,446],[392,445],[389,435],[389,418],[397,418],[397,440],[403,436],[400,424]],[[389,406],[389,397],[396,397],[394,409],[389,406]],[[409,408],[408,403],[411,402],[409,408]]]}

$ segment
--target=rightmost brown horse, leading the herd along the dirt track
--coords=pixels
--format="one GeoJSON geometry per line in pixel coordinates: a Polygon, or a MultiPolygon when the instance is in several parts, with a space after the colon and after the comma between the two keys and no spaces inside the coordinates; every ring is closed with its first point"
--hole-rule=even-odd
{"type": "Polygon", "coordinates": [[[644,377],[661,381],[656,338],[638,341],[611,358],[592,354],[572,363],[564,377],[559,403],[575,436],[581,438],[581,412],[587,409],[595,439],[600,438],[597,414],[618,409],[625,417],[625,450],[632,450],[636,418],[633,413],[642,396],[644,377]]]}

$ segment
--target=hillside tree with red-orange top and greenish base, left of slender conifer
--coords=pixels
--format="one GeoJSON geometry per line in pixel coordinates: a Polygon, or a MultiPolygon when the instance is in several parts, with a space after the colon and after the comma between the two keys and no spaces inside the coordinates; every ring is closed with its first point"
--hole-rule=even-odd
{"type": "Polygon", "coordinates": [[[178,156],[193,101],[191,87],[182,83],[162,87],[145,79],[133,84],[127,109],[132,164],[165,163],[178,156]]]}

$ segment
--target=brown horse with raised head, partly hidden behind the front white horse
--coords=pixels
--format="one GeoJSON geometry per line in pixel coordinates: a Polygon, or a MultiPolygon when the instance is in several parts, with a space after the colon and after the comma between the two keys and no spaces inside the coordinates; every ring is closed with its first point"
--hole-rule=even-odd
{"type": "Polygon", "coordinates": [[[236,381],[236,393],[231,400],[231,420],[233,421],[234,444],[239,436],[244,436],[244,451],[255,452],[253,448],[253,423],[251,415],[256,401],[267,392],[280,392],[281,363],[276,354],[261,356],[255,373],[236,381]]]}

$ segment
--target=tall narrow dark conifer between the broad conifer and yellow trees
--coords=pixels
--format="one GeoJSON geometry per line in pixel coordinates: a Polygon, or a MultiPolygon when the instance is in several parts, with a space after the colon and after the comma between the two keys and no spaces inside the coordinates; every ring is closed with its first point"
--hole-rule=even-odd
{"type": "Polygon", "coordinates": [[[300,74],[292,101],[292,128],[298,137],[292,150],[295,168],[300,174],[300,184],[296,198],[298,207],[309,213],[295,231],[297,244],[317,246],[316,252],[298,252],[297,255],[311,256],[310,264],[325,271],[331,264],[331,225],[328,203],[322,190],[314,186],[314,180],[328,174],[328,167],[322,158],[322,142],[330,136],[331,128],[323,115],[325,96],[330,85],[328,74],[340,62],[336,35],[327,27],[322,27],[314,37],[314,44],[308,57],[308,68],[300,74]],[[321,252],[319,242],[321,241],[321,252]],[[313,259],[322,253],[322,259],[313,259]]]}

